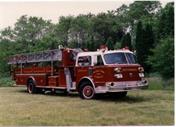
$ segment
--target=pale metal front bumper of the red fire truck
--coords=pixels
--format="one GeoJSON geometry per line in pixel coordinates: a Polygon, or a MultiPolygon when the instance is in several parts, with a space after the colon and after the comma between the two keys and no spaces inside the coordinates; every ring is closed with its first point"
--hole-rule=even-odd
{"type": "Polygon", "coordinates": [[[95,93],[121,92],[137,89],[147,89],[147,80],[141,81],[123,81],[123,82],[107,82],[104,86],[95,88],[95,93]]]}

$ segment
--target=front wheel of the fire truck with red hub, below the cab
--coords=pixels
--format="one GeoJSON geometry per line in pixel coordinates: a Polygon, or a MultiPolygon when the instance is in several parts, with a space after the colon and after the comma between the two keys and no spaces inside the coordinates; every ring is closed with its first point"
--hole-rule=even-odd
{"type": "Polygon", "coordinates": [[[83,82],[79,88],[79,95],[82,99],[93,99],[95,97],[93,86],[89,82],[83,82]]]}

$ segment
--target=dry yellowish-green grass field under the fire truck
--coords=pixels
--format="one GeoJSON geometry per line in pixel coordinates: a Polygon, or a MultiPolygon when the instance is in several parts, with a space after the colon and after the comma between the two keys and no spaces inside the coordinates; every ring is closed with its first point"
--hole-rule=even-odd
{"type": "Polygon", "coordinates": [[[77,94],[30,95],[25,89],[0,88],[0,126],[174,124],[173,91],[139,90],[124,99],[87,101],[77,94]]]}

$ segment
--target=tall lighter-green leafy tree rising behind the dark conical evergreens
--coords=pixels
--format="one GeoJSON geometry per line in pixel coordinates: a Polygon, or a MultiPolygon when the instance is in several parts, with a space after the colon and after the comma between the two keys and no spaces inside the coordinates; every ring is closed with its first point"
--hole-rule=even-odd
{"type": "Polygon", "coordinates": [[[136,26],[139,21],[144,25],[150,22],[155,24],[155,18],[158,12],[161,10],[161,3],[159,1],[135,1],[127,7],[127,11],[124,11],[126,15],[127,27],[131,35],[131,43],[135,48],[136,40],[136,26]]]}

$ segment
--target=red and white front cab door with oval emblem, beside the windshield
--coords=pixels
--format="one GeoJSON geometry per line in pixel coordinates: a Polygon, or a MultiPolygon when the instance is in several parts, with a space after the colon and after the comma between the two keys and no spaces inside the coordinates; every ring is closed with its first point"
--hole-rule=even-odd
{"type": "Polygon", "coordinates": [[[107,73],[101,55],[93,56],[92,78],[96,86],[102,86],[106,82],[107,73]]]}

